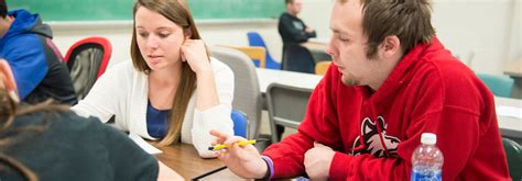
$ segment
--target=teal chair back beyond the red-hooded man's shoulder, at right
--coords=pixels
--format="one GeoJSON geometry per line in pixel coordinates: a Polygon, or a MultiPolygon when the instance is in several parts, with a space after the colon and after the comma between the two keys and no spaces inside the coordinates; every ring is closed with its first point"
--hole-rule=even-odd
{"type": "Polygon", "coordinates": [[[488,73],[477,73],[482,82],[497,97],[511,97],[511,89],[513,88],[514,80],[508,76],[497,76],[488,73]]]}

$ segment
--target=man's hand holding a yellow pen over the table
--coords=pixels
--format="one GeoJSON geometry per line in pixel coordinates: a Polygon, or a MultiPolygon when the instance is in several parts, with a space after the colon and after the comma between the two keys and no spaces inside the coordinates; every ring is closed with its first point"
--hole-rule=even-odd
{"type": "Polygon", "coordinates": [[[261,179],[269,170],[267,162],[261,158],[255,147],[252,145],[238,146],[236,143],[246,140],[239,136],[228,136],[227,134],[210,131],[216,136],[213,145],[226,144],[231,147],[216,150],[217,157],[236,174],[246,179],[261,179]]]}

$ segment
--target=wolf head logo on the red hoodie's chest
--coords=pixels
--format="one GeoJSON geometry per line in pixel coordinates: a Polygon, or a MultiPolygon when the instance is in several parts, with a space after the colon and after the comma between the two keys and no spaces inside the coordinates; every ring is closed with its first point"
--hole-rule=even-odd
{"type": "Polygon", "coordinates": [[[359,140],[360,136],[357,136],[351,155],[371,154],[374,157],[396,157],[396,147],[401,140],[387,135],[387,123],[382,116],[378,116],[376,122],[365,117],[361,134],[362,140],[359,140]]]}

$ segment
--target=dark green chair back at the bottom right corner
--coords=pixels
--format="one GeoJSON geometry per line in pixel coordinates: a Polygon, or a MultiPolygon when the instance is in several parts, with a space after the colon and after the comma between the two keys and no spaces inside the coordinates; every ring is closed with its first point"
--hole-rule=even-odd
{"type": "Polygon", "coordinates": [[[522,147],[515,142],[502,138],[505,157],[508,158],[508,168],[513,180],[522,180],[522,147]]]}

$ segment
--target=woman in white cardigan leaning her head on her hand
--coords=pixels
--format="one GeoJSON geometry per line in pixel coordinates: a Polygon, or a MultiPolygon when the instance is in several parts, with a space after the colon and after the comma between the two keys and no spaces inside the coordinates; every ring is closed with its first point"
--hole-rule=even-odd
{"type": "Polygon", "coordinates": [[[230,120],[233,73],[209,58],[194,20],[178,0],[138,0],[131,42],[132,64],[101,76],[73,108],[160,145],[193,144],[200,157],[215,138],[233,135],[230,120]]]}

